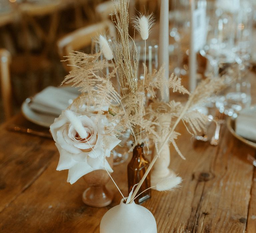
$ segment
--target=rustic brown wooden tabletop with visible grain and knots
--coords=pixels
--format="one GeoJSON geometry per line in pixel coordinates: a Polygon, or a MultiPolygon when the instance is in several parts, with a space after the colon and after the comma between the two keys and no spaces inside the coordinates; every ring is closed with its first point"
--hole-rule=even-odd
{"type": "MultiPolygon", "coordinates": [[[[253,103],[256,81],[252,76],[253,103]]],[[[70,185],[67,171],[56,171],[59,154],[52,139],[10,132],[0,126],[0,232],[98,233],[104,213],[117,205],[93,208],[82,202],[83,179],[70,185]]],[[[177,144],[187,160],[171,148],[171,168],[183,178],[175,192],[152,191],[143,203],[156,218],[158,233],[256,232],[256,169],[247,161],[255,149],[237,140],[226,126],[218,146],[192,140],[184,126],[177,144]]],[[[127,195],[127,163],[114,167],[113,177],[127,195]]],[[[143,220],[142,220],[143,221],[143,220]]]]}

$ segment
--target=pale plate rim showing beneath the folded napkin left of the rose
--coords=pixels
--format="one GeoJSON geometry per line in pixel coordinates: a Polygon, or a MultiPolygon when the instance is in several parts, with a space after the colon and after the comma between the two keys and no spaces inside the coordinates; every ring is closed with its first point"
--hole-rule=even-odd
{"type": "Polygon", "coordinates": [[[35,124],[49,128],[57,116],[34,112],[29,107],[29,102],[30,102],[30,99],[28,98],[25,100],[25,102],[23,102],[23,104],[21,106],[21,112],[22,112],[23,116],[27,120],[29,120],[35,124]]]}

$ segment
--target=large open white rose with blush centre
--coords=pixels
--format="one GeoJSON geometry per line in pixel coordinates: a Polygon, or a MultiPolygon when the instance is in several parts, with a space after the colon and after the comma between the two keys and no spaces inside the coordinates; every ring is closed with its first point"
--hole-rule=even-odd
{"type": "Polygon", "coordinates": [[[94,170],[106,168],[113,172],[105,156],[110,156],[120,140],[105,134],[108,124],[105,115],[84,113],[77,116],[70,110],[63,111],[54,120],[50,131],[60,153],[57,170],[69,170],[67,182],[73,184],[94,170]]]}

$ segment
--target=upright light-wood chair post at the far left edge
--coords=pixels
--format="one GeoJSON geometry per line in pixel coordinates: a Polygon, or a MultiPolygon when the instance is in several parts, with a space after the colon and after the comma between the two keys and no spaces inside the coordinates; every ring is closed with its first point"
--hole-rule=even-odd
{"type": "Polygon", "coordinates": [[[0,82],[5,119],[12,116],[10,63],[11,54],[6,49],[0,49],[0,82]]]}

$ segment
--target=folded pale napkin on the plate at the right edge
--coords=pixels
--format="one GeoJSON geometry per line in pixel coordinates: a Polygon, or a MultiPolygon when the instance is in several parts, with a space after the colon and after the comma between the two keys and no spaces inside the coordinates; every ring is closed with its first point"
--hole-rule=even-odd
{"type": "Polygon", "coordinates": [[[239,113],[235,130],[238,135],[256,141],[256,105],[239,113]]]}

